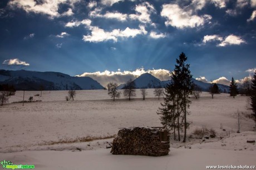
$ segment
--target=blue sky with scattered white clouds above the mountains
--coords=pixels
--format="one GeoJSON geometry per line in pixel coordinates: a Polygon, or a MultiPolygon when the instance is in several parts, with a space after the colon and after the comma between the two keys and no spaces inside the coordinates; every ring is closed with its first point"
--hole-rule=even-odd
{"type": "Polygon", "coordinates": [[[166,79],[182,51],[203,81],[256,67],[255,0],[1,0],[0,22],[1,69],[166,79]]]}

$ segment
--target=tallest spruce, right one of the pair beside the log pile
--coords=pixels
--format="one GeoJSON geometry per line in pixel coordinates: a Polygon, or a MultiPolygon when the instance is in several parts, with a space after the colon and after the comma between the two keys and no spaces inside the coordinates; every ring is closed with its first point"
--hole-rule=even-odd
{"type": "Polygon", "coordinates": [[[189,127],[189,123],[186,120],[186,115],[188,115],[188,108],[190,104],[189,95],[193,92],[192,86],[192,75],[190,73],[189,64],[186,64],[188,58],[184,53],[179,55],[179,59],[176,59],[176,65],[174,69],[174,74],[171,76],[173,79],[174,86],[182,93],[180,98],[182,112],[181,119],[184,120],[184,138],[183,142],[186,142],[186,129],[189,127]]]}

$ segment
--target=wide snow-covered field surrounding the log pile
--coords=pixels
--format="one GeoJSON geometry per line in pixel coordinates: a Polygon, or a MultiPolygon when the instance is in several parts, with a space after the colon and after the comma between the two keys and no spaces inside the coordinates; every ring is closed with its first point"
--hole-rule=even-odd
{"type": "Polygon", "coordinates": [[[242,133],[235,133],[237,111],[250,114],[248,99],[233,99],[228,94],[211,99],[210,94],[203,92],[199,100],[191,97],[189,135],[195,128],[206,127],[213,128],[217,137],[205,141],[188,138],[187,143],[171,140],[168,156],[112,155],[106,149],[112,138],[60,142],[88,136],[111,137],[120,127],[161,126],[156,111],[163,99],[158,100],[153,89],[147,91],[145,101],[137,90],[136,99],[128,101],[121,97],[115,102],[110,100],[107,90],[76,91],[74,101],[65,100],[67,91],[43,91],[42,97],[35,96],[40,91],[26,91],[25,100],[33,96],[34,100],[42,101],[24,106],[11,103],[23,100],[23,91],[17,91],[9,104],[0,107],[0,160],[35,164],[36,169],[206,169],[208,165],[256,165],[256,146],[247,143],[256,140],[254,121],[243,115],[242,133]]]}

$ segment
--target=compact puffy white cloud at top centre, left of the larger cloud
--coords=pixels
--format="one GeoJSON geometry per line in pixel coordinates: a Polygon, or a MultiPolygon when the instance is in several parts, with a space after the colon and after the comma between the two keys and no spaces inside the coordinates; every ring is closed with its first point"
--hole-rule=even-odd
{"type": "Polygon", "coordinates": [[[149,2],[144,2],[135,7],[136,14],[130,14],[129,18],[139,20],[142,23],[152,23],[150,19],[151,13],[156,13],[156,10],[149,2]]]}

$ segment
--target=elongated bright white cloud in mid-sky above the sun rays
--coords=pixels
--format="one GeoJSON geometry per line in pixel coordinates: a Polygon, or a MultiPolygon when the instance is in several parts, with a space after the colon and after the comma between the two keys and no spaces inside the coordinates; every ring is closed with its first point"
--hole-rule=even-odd
{"type": "Polygon", "coordinates": [[[139,28],[140,29],[131,29],[127,27],[125,30],[114,29],[111,32],[106,32],[104,29],[99,27],[89,27],[91,35],[83,35],[83,40],[85,42],[93,43],[105,42],[107,40],[117,42],[118,38],[134,38],[140,34],[147,34],[144,26],[140,25],[139,28]]]}

